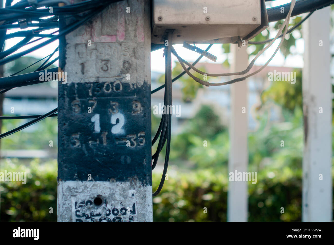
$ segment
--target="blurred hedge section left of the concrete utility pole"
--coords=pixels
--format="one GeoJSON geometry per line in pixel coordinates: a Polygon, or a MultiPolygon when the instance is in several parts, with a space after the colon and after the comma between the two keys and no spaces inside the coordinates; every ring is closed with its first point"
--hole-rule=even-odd
{"type": "Polygon", "coordinates": [[[1,172],[26,172],[27,182],[1,182],[1,221],[57,220],[56,164],[56,161],[39,164],[38,160],[33,160],[27,167],[20,165],[17,159],[2,163],[1,172]],[[50,208],[53,208],[52,214],[50,208]]]}

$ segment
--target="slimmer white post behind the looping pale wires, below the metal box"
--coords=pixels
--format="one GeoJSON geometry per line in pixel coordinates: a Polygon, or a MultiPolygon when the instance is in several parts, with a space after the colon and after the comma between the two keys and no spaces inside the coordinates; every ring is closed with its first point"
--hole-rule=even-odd
{"type": "MultiPolygon", "coordinates": [[[[244,70],[248,66],[246,47],[240,47],[240,49],[238,49],[238,45],[231,44],[231,51],[233,53],[233,63],[231,65],[232,72],[244,70]]],[[[235,170],[237,172],[247,172],[247,92],[247,81],[231,85],[230,154],[228,172],[233,172],[233,174],[235,173],[235,170]]],[[[245,222],[247,221],[247,217],[247,182],[229,181],[227,221],[245,222]]]]}

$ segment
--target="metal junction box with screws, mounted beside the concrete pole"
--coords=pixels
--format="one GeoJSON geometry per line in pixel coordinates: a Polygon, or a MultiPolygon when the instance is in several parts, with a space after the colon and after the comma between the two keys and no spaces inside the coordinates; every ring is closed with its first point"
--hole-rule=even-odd
{"type": "Polygon", "coordinates": [[[176,43],[235,43],[268,27],[264,0],[153,0],[153,44],[163,44],[174,29],[176,43]]]}

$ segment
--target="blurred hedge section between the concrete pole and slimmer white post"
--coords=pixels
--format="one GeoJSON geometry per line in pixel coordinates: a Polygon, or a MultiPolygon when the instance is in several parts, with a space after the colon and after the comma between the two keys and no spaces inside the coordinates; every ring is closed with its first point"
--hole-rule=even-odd
{"type": "MultiPolygon", "coordinates": [[[[159,181],[154,174],[153,186],[159,181]]],[[[226,221],[226,204],[226,175],[211,171],[170,175],[153,198],[153,221],[226,221]]]]}

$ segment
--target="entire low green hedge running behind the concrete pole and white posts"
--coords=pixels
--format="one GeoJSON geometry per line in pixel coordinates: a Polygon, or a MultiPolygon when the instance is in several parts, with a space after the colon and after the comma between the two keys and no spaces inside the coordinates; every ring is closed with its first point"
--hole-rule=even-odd
{"type": "MultiPolygon", "coordinates": [[[[56,161],[32,161],[29,168],[17,164],[3,163],[0,171],[25,171],[28,180],[25,185],[1,182],[0,220],[56,221],[56,161]]],[[[169,172],[162,192],[153,198],[154,221],[226,221],[226,171],[169,172]]],[[[256,185],[248,185],[248,221],[301,221],[301,172],[288,167],[267,170],[258,173],[257,180],[256,185]]],[[[159,181],[160,176],[154,174],[153,189],[159,181]]]]}

